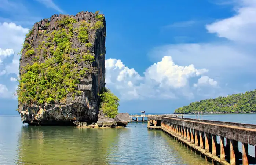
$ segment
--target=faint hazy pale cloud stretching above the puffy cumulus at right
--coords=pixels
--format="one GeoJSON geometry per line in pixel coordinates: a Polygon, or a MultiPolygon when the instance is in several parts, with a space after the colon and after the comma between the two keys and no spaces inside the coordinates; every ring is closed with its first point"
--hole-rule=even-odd
{"type": "Polygon", "coordinates": [[[242,72],[250,70],[255,64],[255,57],[244,50],[227,43],[172,44],[154,48],[149,56],[160,60],[172,56],[180,65],[193,63],[196,67],[207,67],[214,76],[220,73],[242,72]]]}

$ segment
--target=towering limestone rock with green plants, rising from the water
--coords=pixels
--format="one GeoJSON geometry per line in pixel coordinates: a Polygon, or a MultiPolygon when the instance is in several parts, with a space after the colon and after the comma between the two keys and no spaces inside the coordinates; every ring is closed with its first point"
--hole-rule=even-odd
{"type": "Polygon", "coordinates": [[[18,112],[29,125],[97,122],[105,87],[102,14],[52,15],[34,24],[21,51],[18,112]]]}

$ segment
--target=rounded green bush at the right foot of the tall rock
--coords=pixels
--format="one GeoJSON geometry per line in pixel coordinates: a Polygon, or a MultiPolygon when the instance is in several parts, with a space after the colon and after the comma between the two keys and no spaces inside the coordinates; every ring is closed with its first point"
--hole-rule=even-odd
{"type": "Polygon", "coordinates": [[[109,89],[104,88],[102,93],[99,94],[100,110],[103,110],[103,113],[109,118],[114,118],[118,114],[119,99],[115,96],[109,89]]]}

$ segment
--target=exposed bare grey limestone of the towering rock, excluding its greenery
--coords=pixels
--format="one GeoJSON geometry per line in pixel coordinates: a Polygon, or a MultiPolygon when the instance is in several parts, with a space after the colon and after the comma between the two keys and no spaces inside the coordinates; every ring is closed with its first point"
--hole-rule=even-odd
{"type": "MultiPolygon", "coordinates": [[[[58,25],[59,21],[63,21],[65,17],[73,18],[76,23],[72,24],[73,29],[78,29],[82,22],[89,24],[88,28],[88,43],[92,46],[88,47],[86,44],[78,40],[78,30],[74,30],[73,38],[70,39],[72,52],[65,54],[71,60],[70,63],[76,63],[78,72],[83,69],[94,68],[94,72],[86,72],[84,76],[80,77],[80,83],[76,84],[80,95],[72,95],[72,93],[66,96],[64,102],[55,102],[51,104],[24,104],[19,103],[18,112],[21,114],[21,120],[23,123],[29,125],[73,125],[73,121],[87,122],[91,124],[98,120],[97,114],[99,112],[98,93],[105,87],[105,37],[106,37],[106,22],[103,16],[102,29],[95,30],[91,27],[95,25],[97,21],[96,15],[92,12],[80,12],[76,15],[52,15],[51,18],[42,19],[34,24],[32,33],[25,39],[25,43],[30,45],[31,49],[35,51],[33,55],[26,56],[27,49],[23,49],[20,59],[20,74],[25,71],[23,67],[33,65],[35,60],[39,63],[45,63],[45,61],[51,58],[53,55],[43,43],[48,43],[48,36],[54,34],[55,31],[61,29],[68,29],[67,26],[61,27],[58,25]],[[43,53],[43,49],[40,52],[40,47],[45,48],[46,53],[43,53]],[[73,51],[74,50],[74,51],[73,51]],[[76,51],[75,51],[76,50],[76,51]],[[82,56],[85,52],[90,52],[94,56],[94,61],[88,63],[86,61],[77,60],[78,55],[82,56]],[[45,55],[45,56],[44,56],[45,55]]],[[[53,41],[52,41],[53,43],[53,41]]],[[[51,43],[51,44],[52,44],[51,43]]],[[[56,45],[52,44],[54,50],[56,45]]]]}

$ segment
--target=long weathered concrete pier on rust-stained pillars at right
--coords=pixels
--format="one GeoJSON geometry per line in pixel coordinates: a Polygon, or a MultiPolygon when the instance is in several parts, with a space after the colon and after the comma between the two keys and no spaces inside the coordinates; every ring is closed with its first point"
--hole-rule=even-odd
{"type": "Polygon", "coordinates": [[[256,125],[160,115],[147,119],[148,129],[162,129],[178,142],[211,160],[212,164],[256,164],[256,154],[248,154],[248,145],[256,149],[256,125]],[[241,152],[238,142],[242,143],[241,152]]]}

